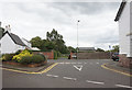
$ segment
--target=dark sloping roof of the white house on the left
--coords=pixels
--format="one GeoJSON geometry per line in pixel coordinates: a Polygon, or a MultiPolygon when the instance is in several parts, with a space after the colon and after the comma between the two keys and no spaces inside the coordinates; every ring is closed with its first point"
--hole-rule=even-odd
{"type": "Polygon", "coordinates": [[[21,38],[18,36],[18,35],[15,35],[15,34],[13,34],[13,33],[9,33],[8,31],[6,32],[6,34],[9,34],[9,36],[13,40],[13,42],[15,43],[15,44],[18,44],[18,45],[21,45],[21,46],[26,46],[22,41],[21,41],[21,38]]]}

